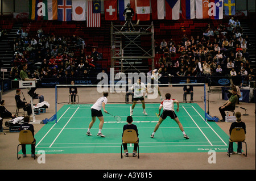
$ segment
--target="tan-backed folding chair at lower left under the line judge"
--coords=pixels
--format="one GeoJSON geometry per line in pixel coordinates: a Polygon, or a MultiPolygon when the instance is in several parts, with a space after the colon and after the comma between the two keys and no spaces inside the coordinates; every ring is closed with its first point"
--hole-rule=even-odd
{"type": "MultiPolygon", "coordinates": [[[[19,132],[19,145],[35,145],[34,136],[30,130],[22,130],[19,132]]],[[[19,145],[17,147],[17,158],[19,159],[19,145]]],[[[34,154],[34,159],[36,155],[34,154]]]]}

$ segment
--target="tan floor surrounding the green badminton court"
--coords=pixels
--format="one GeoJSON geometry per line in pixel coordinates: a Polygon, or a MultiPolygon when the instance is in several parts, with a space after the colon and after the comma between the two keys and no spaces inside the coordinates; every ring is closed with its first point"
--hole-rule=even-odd
{"type": "MultiPolygon", "coordinates": [[[[181,91],[180,87],[161,87],[162,94],[172,92],[172,98],[183,100],[182,94],[175,95],[181,91]]],[[[87,96],[88,102],[95,102],[101,94],[93,90],[80,92],[80,99],[87,96]],[[86,94],[89,91],[90,94],[86,94]]],[[[27,91],[23,93],[29,100],[27,91]]],[[[51,117],[55,113],[55,89],[38,89],[39,94],[44,95],[44,99],[50,104],[46,113],[36,115],[36,119],[42,120],[51,117]]],[[[203,95],[201,89],[195,90],[195,99],[200,99],[203,95]],[[198,94],[197,94],[198,93],[198,94]]],[[[11,112],[15,112],[15,90],[3,93],[5,107],[11,112]]],[[[189,96],[189,95],[188,95],[189,96]]],[[[68,90],[62,89],[58,92],[59,102],[68,100],[68,90]],[[63,99],[63,100],[61,100],[63,99]]],[[[109,104],[114,102],[124,103],[124,94],[110,94],[109,104]]],[[[148,99],[146,102],[149,101],[148,99]]],[[[152,101],[152,100],[150,100],[152,101]]],[[[160,103],[160,99],[154,100],[160,103]]],[[[221,117],[218,107],[225,100],[221,100],[220,94],[211,94],[209,111],[211,116],[221,117]]],[[[204,110],[204,103],[198,103],[204,110]]],[[[59,110],[61,104],[58,104],[59,110]]],[[[106,109],[108,104],[106,106],[106,109]]],[[[16,147],[18,145],[18,134],[4,131],[0,133],[0,169],[1,170],[255,170],[255,103],[240,103],[236,111],[244,113],[240,107],[246,108],[249,116],[242,116],[242,121],[246,123],[247,157],[244,155],[232,155],[230,158],[226,153],[216,153],[216,163],[209,163],[208,153],[141,153],[139,159],[128,157],[120,158],[120,154],[46,154],[46,163],[38,163],[38,159],[16,158],[16,147]],[[6,134],[4,134],[6,133],[6,134]]],[[[217,123],[220,128],[229,134],[230,123],[217,123]]],[[[4,124],[3,124],[4,125],[4,124]]],[[[44,124],[34,124],[35,132],[38,132],[44,124]]],[[[189,135],[192,137],[192,135],[189,135]]],[[[245,147],[243,146],[243,150],[245,147]]],[[[30,154],[28,154],[30,156],[30,154]]]]}

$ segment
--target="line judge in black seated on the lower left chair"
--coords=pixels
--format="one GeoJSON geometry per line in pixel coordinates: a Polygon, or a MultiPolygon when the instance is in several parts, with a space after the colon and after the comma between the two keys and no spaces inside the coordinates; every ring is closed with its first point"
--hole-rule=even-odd
{"type": "MultiPolygon", "coordinates": [[[[32,132],[32,135],[34,137],[34,126],[32,124],[29,124],[30,122],[30,116],[25,116],[24,119],[24,124],[20,125],[19,131],[22,130],[29,130],[32,132]]],[[[34,142],[35,142],[35,138],[34,138],[34,142]]],[[[26,155],[26,145],[22,145],[22,153],[23,153],[23,157],[27,157],[26,155]]],[[[31,145],[31,157],[34,157],[35,155],[35,144],[31,145]]]]}

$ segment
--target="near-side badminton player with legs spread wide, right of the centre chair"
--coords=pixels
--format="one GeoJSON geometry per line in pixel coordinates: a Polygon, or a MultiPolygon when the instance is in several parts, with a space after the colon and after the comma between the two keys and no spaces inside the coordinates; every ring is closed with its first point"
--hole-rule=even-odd
{"type": "Polygon", "coordinates": [[[175,99],[171,99],[171,94],[166,93],[166,99],[163,100],[159,106],[158,116],[160,116],[160,112],[161,112],[162,108],[163,108],[163,112],[162,112],[162,115],[159,117],[159,121],[158,121],[158,124],[156,124],[156,126],[155,126],[154,132],[150,136],[151,138],[154,138],[155,132],[158,130],[158,128],[159,128],[160,124],[163,122],[163,120],[165,120],[167,116],[170,116],[171,119],[175,120],[176,123],[179,125],[180,131],[183,133],[183,137],[186,139],[189,139],[187,134],[184,132],[183,126],[180,123],[179,118],[177,117],[177,115],[174,111],[174,103],[177,104],[176,112],[179,112],[179,101],[177,101],[175,99]]]}

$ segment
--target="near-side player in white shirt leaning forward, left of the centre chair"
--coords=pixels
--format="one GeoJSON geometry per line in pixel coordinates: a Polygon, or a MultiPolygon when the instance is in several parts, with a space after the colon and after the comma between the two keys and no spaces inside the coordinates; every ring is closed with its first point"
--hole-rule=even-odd
{"type": "Polygon", "coordinates": [[[108,103],[108,99],[107,99],[108,95],[109,95],[108,92],[104,92],[103,96],[101,98],[98,98],[96,103],[94,103],[93,106],[90,108],[91,113],[92,113],[92,121],[89,124],[89,128],[88,128],[88,131],[87,131],[86,135],[92,136],[92,134],[90,134],[90,128],[92,128],[93,124],[96,121],[96,117],[98,117],[98,119],[100,120],[100,124],[98,125],[99,130],[98,130],[97,136],[105,137],[101,133],[101,130],[102,130],[102,127],[103,127],[103,124],[104,124],[104,117],[102,115],[101,108],[103,108],[103,111],[105,113],[108,112],[108,111],[105,110],[105,105],[106,105],[106,103],[108,103]]]}

